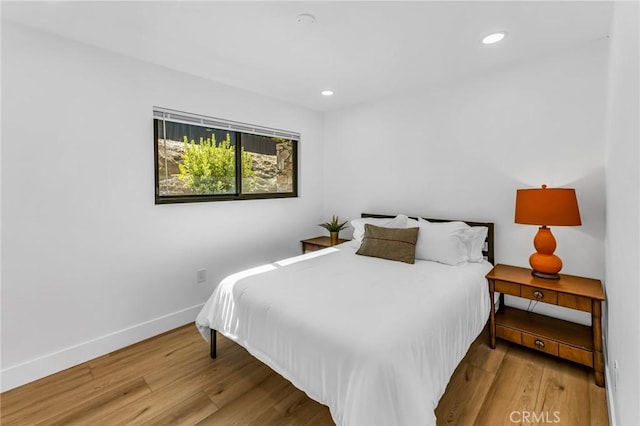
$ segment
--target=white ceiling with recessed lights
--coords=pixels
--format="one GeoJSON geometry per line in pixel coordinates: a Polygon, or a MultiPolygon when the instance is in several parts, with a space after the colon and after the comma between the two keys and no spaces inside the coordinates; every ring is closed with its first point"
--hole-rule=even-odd
{"type": "Polygon", "coordinates": [[[2,2],[2,19],[318,111],[606,37],[612,3],[2,2]],[[301,13],[317,22],[303,25],[301,13]],[[506,30],[505,41],[480,38],[506,30]],[[335,90],[323,97],[325,88],[335,90]]]}

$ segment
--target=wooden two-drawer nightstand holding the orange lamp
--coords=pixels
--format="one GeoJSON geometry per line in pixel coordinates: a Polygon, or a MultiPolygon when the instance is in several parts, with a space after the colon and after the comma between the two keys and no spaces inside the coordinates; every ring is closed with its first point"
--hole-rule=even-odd
{"type": "Polygon", "coordinates": [[[491,295],[491,348],[496,337],[557,357],[584,364],[595,370],[596,384],[604,386],[602,356],[602,283],[591,278],[560,275],[546,280],[531,275],[531,269],[496,265],[487,274],[491,295]],[[494,292],[500,293],[495,312],[494,292]],[[504,305],[504,295],[523,297],[591,313],[591,326],[576,324],[504,305]]]}

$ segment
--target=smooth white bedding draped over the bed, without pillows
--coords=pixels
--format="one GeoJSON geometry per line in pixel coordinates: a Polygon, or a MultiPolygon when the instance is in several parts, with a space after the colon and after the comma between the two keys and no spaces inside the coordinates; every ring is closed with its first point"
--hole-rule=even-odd
{"type": "Polygon", "coordinates": [[[356,243],[225,278],[196,319],[329,406],[338,425],[435,425],[489,317],[488,262],[414,265],[356,243]]]}

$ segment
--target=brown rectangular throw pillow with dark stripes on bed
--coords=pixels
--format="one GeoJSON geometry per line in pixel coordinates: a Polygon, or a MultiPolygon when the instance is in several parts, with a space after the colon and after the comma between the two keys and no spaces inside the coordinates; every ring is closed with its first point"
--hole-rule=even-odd
{"type": "Polygon", "coordinates": [[[367,223],[364,226],[362,244],[356,254],[415,263],[419,229],[383,228],[367,223]]]}

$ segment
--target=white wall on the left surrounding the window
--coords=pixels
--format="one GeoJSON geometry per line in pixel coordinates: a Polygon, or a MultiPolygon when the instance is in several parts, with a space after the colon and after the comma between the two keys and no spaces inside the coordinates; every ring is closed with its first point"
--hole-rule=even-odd
{"type": "Polygon", "coordinates": [[[224,275],[298,254],[321,231],[321,120],[3,22],[2,389],[187,323],[224,275]],[[154,105],[300,132],[300,197],[154,205],[154,105]]]}

